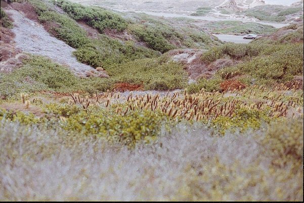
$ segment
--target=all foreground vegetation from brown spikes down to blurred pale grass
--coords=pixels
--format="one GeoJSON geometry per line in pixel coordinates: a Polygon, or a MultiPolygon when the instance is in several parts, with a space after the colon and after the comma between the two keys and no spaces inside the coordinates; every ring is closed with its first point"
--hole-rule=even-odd
{"type": "Polygon", "coordinates": [[[302,90],[42,95],[0,104],[1,199],[302,199],[302,90]]]}

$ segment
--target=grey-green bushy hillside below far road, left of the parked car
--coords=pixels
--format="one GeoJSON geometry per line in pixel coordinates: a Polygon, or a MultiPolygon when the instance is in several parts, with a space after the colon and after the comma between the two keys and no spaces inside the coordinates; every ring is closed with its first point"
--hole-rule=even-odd
{"type": "Polygon", "coordinates": [[[133,16],[128,30],[148,47],[162,53],[174,48],[206,49],[215,43],[198,27],[180,20],[164,20],[146,14],[133,16]]]}

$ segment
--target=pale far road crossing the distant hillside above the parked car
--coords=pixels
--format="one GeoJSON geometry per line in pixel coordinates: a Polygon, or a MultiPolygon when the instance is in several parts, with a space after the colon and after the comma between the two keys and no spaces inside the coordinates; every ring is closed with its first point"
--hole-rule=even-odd
{"type": "Polygon", "coordinates": [[[249,19],[243,19],[243,18],[216,18],[212,16],[187,16],[187,15],[181,15],[181,14],[172,14],[172,13],[161,13],[161,12],[149,12],[149,11],[136,11],[136,10],[122,10],[122,9],[113,9],[114,11],[119,12],[135,12],[135,13],[145,13],[152,16],[163,16],[163,17],[170,17],[170,18],[191,18],[196,20],[206,20],[206,21],[227,21],[227,20],[236,20],[241,22],[255,22],[263,25],[271,25],[275,28],[281,28],[284,26],[287,26],[289,24],[284,23],[268,23],[268,22],[262,22],[262,21],[253,21],[249,19]]]}

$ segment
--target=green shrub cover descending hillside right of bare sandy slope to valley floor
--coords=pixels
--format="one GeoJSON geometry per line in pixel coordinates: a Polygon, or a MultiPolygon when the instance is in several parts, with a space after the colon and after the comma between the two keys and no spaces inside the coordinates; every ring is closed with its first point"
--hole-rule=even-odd
{"type": "Polygon", "coordinates": [[[54,4],[34,0],[14,3],[13,7],[24,13],[30,11],[31,16],[34,11],[36,20],[51,34],[77,49],[74,55],[79,62],[105,69],[110,74],[109,79],[91,79],[96,85],[102,83],[99,90],[111,89],[115,83],[135,83],[134,85],[143,85],[144,89],[155,90],[183,88],[187,77],[182,67],[177,63],[160,62],[164,59],[157,57],[175,47],[206,48],[214,45],[210,36],[203,31],[196,28],[187,30],[182,25],[171,26],[166,21],[146,15],[125,20],[103,8],[83,7],[67,1],[57,1],[54,4]],[[94,24],[93,18],[104,24],[94,24]],[[90,36],[76,20],[98,29],[100,33],[95,37],[90,36]],[[134,37],[128,35],[131,40],[113,38],[106,35],[111,30],[115,30],[113,32],[118,35],[121,30],[126,34],[133,33],[134,37]],[[148,48],[139,43],[144,43],[148,48]],[[144,66],[153,64],[152,61],[156,61],[155,64],[162,68],[151,66],[148,71],[144,66]],[[153,74],[156,75],[152,78],[153,74]]]}

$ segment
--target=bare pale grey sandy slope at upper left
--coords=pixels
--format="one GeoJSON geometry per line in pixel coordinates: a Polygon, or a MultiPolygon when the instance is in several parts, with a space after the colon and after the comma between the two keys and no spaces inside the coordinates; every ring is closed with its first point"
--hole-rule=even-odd
{"type": "Polygon", "coordinates": [[[98,72],[89,65],[79,63],[72,55],[75,49],[51,36],[39,23],[13,9],[6,9],[6,12],[11,14],[15,21],[12,31],[16,34],[14,39],[16,48],[30,54],[49,57],[57,63],[68,66],[80,77],[87,76],[88,72],[98,72]]]}

